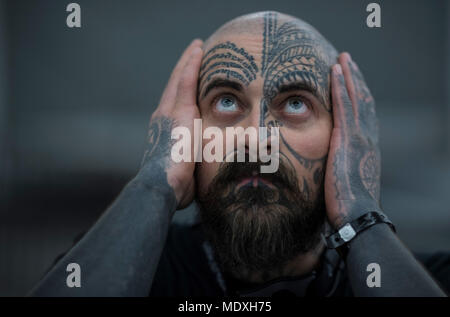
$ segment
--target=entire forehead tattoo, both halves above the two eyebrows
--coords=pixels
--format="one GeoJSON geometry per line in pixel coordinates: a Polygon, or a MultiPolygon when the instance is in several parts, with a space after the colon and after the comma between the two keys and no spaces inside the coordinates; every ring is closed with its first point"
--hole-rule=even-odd
{"type": "Polygon", "coordinates": [[[309,90],[330,111],[330,54],[327,50],[333,50],[331,45],[302,21],[292,19],[279,25],[278,14],[272,12],[262,17],[262,35],[261,65],[257,65],[254,57],[244,48],[230,41],[216,44],[209,49],[200,68],[199,82],[202,85],[199,93],[205,96],[217,86],[227,86],[227,81],[221,82],[220,85],[211,82],[214,77],[220,75],[230,80],[228,83],[235,81],[248,86],[256,79],[257,74],[260,74],[264,79],[265,105],[270,103],[277,93],[290,86],[309,90]]]}

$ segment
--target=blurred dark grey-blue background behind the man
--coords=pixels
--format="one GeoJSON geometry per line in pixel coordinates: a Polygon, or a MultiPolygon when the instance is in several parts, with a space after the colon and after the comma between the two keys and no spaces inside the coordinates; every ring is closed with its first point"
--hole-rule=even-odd
{"type": "MultiPolygon", "coordinates": [[[[382,203],[405,244],[450,251],[450,1],[0,1],[0,296],[25,295],[138,171],[195,37],[277,10],[349,51],[377,101],[382,203]]],[[[180,213],[180,212],[178,212],[180,213]]]]}

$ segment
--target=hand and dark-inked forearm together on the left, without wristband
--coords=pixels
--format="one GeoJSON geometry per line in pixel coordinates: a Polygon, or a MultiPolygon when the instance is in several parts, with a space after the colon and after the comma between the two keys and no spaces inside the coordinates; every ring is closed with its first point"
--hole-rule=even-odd
{"type": "Polygon", "coordinates": [[[194,119],[200,117],[196,95],[201,45],[193,41],[172,72],[150,120],[149,145],[138,175],[33,289],[33,296],[148,295],[171,216],[194,197],[195,163],[172,161],[171,135],[175,126],[184,126],[192,136],[194,119]],[[70,263],[83,268],[83,287],[67,287],[70,263]]]}

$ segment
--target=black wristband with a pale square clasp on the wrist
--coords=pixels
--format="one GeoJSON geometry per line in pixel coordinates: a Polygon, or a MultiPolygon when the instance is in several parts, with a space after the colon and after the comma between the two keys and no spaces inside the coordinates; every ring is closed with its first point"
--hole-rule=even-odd
{"type": "Polygon", "coordinates": [[[377,211],[371,211],[345,224],[337,232],[326,237],[325,241],[327,247],[329,249],[336,249],[338,253],[345,258],[348,251],[347,243],[361,231],[364,231],[377,223],[386,223],[395,232],[395,226],[384,214],[377,211]]]}

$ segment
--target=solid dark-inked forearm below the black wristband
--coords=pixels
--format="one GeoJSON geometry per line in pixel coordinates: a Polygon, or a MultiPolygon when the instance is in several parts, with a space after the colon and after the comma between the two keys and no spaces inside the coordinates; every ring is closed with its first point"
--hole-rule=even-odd
{"type": "Polygon", "coordinates": [[[355,296],[445,296],[385,224],[374,225],[350,241],[347,268],[355,296]],[[380,265],[380,287],[367,284],[370,263],[380,265]]]}

